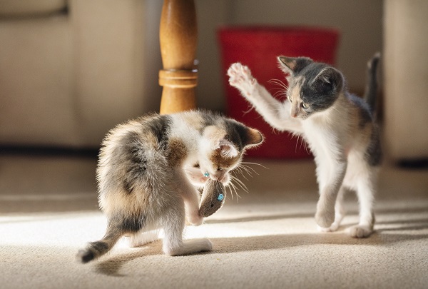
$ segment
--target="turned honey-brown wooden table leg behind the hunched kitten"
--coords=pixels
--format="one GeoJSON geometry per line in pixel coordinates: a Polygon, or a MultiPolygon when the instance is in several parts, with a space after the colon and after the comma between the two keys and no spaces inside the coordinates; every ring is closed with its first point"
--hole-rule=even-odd
{"type": "Polygon", "coordinates": [[[175,113],[196,107],[198,70],[194,61],[198,44],[193,0],[164,0],[160,27],[163,69],[161,113],[175,113]]]}

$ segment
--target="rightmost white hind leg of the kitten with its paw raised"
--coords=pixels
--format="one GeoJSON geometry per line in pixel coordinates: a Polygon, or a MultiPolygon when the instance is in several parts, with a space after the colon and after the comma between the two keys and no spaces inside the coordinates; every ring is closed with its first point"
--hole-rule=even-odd
{"type": "Polygon", "coordinates": [[[357,183],[357,196],[360,201],[360,223],[350,228],[350,235],[355,238],[366,238],[373,233],[374,226],[374,190],[370,178],[357,183]]]}

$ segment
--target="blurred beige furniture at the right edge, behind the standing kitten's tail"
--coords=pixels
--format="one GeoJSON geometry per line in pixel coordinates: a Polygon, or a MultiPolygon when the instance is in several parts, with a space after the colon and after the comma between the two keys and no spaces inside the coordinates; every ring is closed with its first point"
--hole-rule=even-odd
{"type": "Polygon", "coordinates": [[[428,1],[384,2],[384,148],[394,161],[428,158],[428,1]]]}

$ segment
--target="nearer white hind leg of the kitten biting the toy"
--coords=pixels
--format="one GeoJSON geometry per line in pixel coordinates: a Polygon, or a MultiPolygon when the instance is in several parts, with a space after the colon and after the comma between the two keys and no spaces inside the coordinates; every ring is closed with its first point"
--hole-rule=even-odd
{"type": "Polygon", "coordinates": [[[163,218],[163,252],[167,255],[188,255],[213,250],[213,243],[208,239],[183,240],[185,212],[183,201],[168,210],[163,218]]]}

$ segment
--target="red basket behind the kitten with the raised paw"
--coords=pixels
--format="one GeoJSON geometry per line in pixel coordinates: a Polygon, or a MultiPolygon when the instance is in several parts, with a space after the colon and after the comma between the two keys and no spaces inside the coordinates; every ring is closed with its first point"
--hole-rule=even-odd
{"type": "Polygon", "coordinates": [[[265,136],[265,143],[249,150],[248,156],[307,158],[311,155],[302,139],[298,141],[290,133],[274,131],[255,110],[247,112],[249,103],[240,96],[238,89],[229,85],[226,71],[230,64],[247,65],[259,83],[275,96],[280,87],[269,81],[280,79],[287,84],[284,73],[278,69],[277,56],[307,56],[334,65],[339,35],[335,29],[310,27],[233,26],[218,29],[228,116],[258,128],[265,136]]]}

